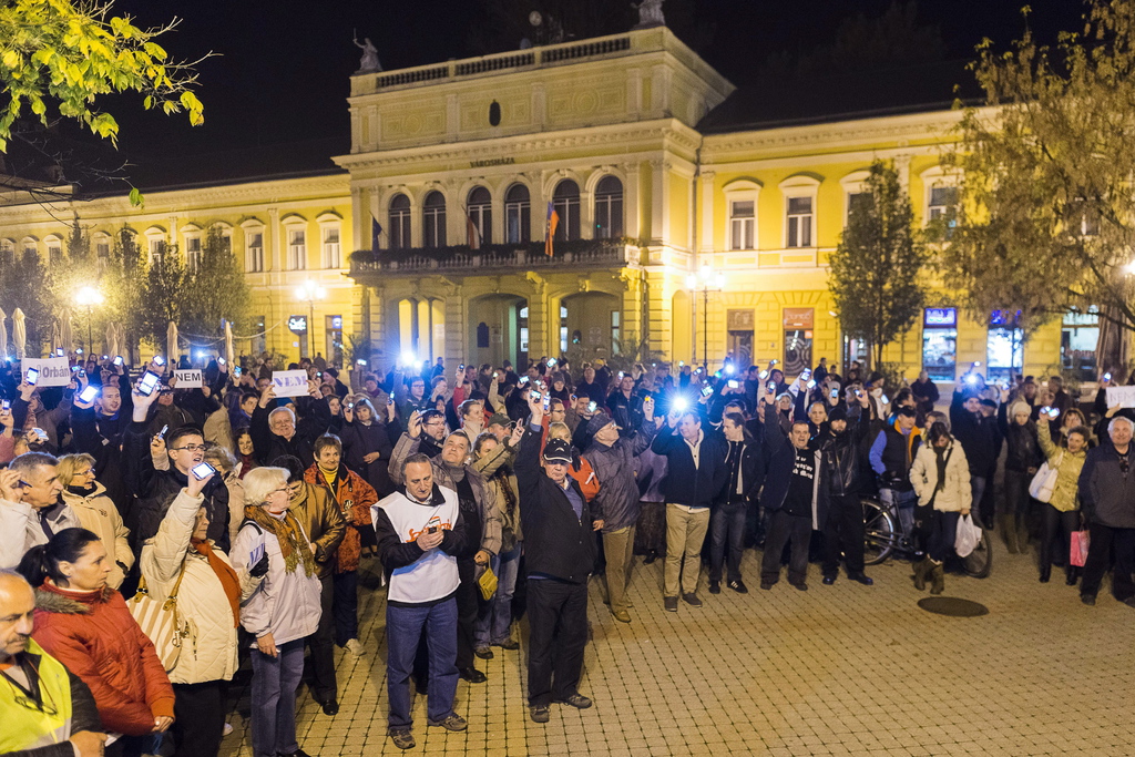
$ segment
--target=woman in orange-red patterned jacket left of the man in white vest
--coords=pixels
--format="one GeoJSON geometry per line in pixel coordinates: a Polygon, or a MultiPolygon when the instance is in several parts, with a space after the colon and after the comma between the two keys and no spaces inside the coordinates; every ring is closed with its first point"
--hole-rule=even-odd
{"type": "Polygon", "coordinates": [[[340,460],[343,443],[326,434],[313,445],[316,464],[309,468],[303,480],[327,491],[336,503],[347,524],[335,558],[331,581],[335,588],[335,644],[353,655],[362,654],[359,642],[359,556],[362,540],[361,527],[370,525],[370,506],[378,502],[378,494],[361,476],[348,470],[340,460]]]}

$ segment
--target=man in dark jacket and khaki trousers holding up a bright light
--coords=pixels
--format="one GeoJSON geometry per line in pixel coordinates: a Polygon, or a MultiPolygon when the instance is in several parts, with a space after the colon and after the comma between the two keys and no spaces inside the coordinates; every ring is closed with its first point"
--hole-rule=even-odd
{"type": "Polygon", "coordinates": [[[701,546],[709,530],[709,505],[721,493],[729,472],[725,468],[728,445],[720,431],[703,430],[698,413],[672,409],[666,426],[658,431],[650,448],[656,455],[666,457],[663,602],[669,612],[676,613],[679,579],[686,604],[701,606],[697,595],[701,546]]]}

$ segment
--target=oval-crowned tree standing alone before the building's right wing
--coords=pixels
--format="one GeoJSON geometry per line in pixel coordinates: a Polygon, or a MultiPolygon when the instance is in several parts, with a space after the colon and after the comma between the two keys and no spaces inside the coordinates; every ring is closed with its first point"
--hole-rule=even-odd
{"type": "Polygon", "coordinates": [[[832,253],[827,288],[843,333],[883,347],[909,329],[926,298],[930,250],[914,225],[910,197],[889,163],[872,163],[861,194],[854,195],[848,225],[832,253]]]}

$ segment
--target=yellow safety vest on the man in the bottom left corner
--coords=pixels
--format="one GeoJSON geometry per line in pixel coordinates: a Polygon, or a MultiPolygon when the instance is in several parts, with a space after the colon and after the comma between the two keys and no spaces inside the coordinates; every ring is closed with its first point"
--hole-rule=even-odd
{"type": "Polygon", "coordinates": [[[0,727],[0,754],[39,749],[70,738],[72,700],[67,668],[32,639],[27,640],[27,651],[40,657],[40,695],[44,709],[53,709],[54,713],[16,701],[16,697],[23,698],[24,693],[11,681],[0,683],[0,723],[3,723],[0,727]]]}

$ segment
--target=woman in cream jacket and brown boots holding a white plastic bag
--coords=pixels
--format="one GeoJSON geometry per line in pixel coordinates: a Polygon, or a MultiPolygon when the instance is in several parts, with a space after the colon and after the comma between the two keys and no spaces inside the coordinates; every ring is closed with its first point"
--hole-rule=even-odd
{"type": "Polygon", "coordinates": [[[920,507],[933,506],[927,540],[927,556],[915,565],[915,588],[926,588],[931,579],[931,594],[945,589],[945,570],[942,563],[953,549],[958,519],[969,514],[973,493],[969,488],[969,464],[961,445],[950,436],[945,423],[930,427],[930,444],[924,444],[910,466],[910,483],[918,495],[920,507]]]}

